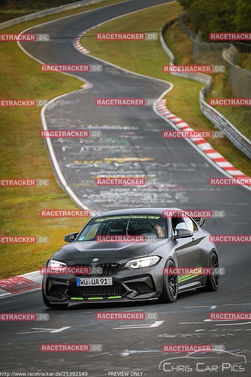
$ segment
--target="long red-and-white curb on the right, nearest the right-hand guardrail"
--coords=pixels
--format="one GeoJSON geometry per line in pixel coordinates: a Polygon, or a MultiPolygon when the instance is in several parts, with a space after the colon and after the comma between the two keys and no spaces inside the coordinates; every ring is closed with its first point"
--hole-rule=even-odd
{"type": "MultiPolygon", "coordinates": [[[[177,127],[183,131],[194,131],[186,122],[167,109],[165,99],[158,102],[156,109],[158,113],[164,116],[164,118],[167,118],[168,121],[173,124],[174,128],[177,127]]],[[[248,175],[245,175],[230,162],[228,162],[227,159],[221,155],[221,153],[218,153],[217,150],[213,149],[211,144],[204,138],[191,138],[190,140],[201,150],[201,152],[205,153],[205,155],[207,155],[207,157],[210,158],[214,164],[224,170],[224,172],[228,173],[234,178],[249,178],[248,175]]]]}

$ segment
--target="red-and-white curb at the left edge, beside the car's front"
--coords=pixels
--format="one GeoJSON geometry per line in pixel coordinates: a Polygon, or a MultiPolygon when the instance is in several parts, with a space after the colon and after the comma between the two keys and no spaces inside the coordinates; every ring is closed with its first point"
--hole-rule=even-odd
{"type": "Polygon", "coordinates": [[[0,298],[26,291],[38,290],[42,287],[42,279],[43,276],[40,271],[28,272],[27,274],[1,279],[0,298]]]}

